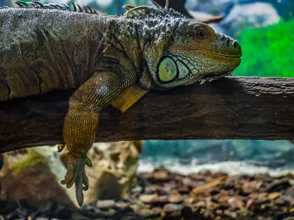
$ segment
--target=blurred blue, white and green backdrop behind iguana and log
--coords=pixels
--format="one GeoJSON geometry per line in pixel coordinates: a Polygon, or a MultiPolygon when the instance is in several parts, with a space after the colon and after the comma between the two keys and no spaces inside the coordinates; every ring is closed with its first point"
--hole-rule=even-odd
{"type": "MultiPolygon", "coordinates": [[[[40,1],[70,5],[67,0],[40,1]]],[[[13,6],[12,2],[1,0],[0,6],[13,6]]],[[[126,11],[123,5],[153,5],[150,0],[74,2],[119,16],[126,11]]],[[[240,43],[243,56],[235,75],[294,76],[293,0],[170,0],[170,6],[172,3],[185,6],[185,12],[185,8],[177,8],[188,18],[223,17],[209,25],[240,43]]],[[[144,141],[138,171],[151,172],[158,165],[183,174],[208,169],[278,175],[294,172],[294,145],[291,141],[262,140],[144,141]]]]}

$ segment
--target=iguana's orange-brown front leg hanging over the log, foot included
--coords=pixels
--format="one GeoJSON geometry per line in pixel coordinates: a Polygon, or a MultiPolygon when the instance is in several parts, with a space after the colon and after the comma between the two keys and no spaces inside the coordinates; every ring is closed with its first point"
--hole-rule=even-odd
{"type": "Polygon", "coordinates": [[[113,72],[95,73],[69,99],[63,130],[69,162],[61,184],[70,188],[75,183],[79,206],[83,204],[83,189],[88,189],[85,165],[91,166],[87,152],[95,140],[98,111],[118,97],[126,83],[113,72]]]}

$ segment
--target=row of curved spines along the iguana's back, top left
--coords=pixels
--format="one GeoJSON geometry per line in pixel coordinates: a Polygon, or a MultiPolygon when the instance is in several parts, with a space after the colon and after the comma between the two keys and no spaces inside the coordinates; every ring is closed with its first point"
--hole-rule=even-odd
{"type": "MultiPolygon", "coordinates": [[[[52,3],[42,4],[39,1],[31,1],[31,2],[15,1],[14,3],[17,4],[20,8],[59,9],[59,10],[69,10],[69,11],[78,11],[83,13],[97,14],[97,12],[94,9],[91,9],[89,6],[85,6],[85,5],[83,5],[85,9],[85,11],[83,11],[81,6],[76,4],[78,6],[78,10],[77,10],[76,5],[72,1],[70,2],[72,3],[74,10],[71,10],[71,8],[67,4],[62,2],[58,4],[52,4],[52,3]]],[[[9,7],[4,6],[3,8],[9,8],[9,7]]]]}

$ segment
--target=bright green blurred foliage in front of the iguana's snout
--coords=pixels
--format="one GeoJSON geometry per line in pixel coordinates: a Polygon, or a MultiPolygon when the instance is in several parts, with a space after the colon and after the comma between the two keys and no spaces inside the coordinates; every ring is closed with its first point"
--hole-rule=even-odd
{"type": "Polygon", "coordinates": [[[243,56],[235,75],[294,77],[294,19],[267,28],[247,28],[239,43],[243,56]]]}

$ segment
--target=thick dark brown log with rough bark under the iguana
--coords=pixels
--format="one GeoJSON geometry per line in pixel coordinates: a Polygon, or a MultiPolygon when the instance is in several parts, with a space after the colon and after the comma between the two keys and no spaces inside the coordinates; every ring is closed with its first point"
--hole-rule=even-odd
{"type": "MultiPolygon", "coordinates": [[[[63,143],[73,91],[0,103],[0,153],[63,143]]],[[[125,113],[99,113],[96,142],[146,139],[294,139],[294,78],[226,77],[151,91],[125,113]]]]}

